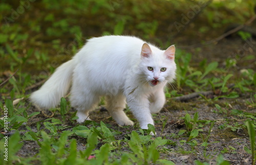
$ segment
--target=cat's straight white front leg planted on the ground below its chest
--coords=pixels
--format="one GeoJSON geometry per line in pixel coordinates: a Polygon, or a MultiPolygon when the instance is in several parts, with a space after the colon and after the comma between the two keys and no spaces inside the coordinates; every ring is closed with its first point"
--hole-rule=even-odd
{"type": "Polygon", "coordinates": [[[148,129],[147,124],[154,125],[154,120],[150,112],[150,101],[147,98],[127,97],[127,104],[133,115],[139,121],[142,129],[148,129]]]}

